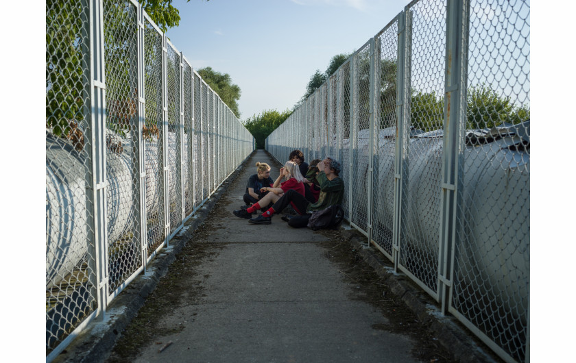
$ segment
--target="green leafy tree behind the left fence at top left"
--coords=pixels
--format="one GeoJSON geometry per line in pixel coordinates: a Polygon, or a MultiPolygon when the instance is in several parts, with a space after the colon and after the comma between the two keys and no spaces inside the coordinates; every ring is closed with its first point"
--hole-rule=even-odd
{"type": "MultiPolygon", "coordinates": [[[[164,32],[180,21],[172,1],[141,0],[144,10],[164,32]]],[[[108,111],[121,111],[126,116],[133,113],[136,85],[121,80],[134,79],[136,71],[133,67],[136,60],[131,59],[135,53],[128,49],[132,44],[130,40],[136,36],[136,18],[123,18],[127,13],[125,2],[106,1],[104,6],[107,18],[104,24],[106,82],[117,90],[116,94],[107,95],[110,98],[108,111]],[[108,21],[110,18],[115,22],[108,21]],[[124,29],[123,38],[118,38],[121,33],[116,30],[119,28],[124,29]],[[117,77],[108,76],[111,68],[115,69],[117,77]]],[[[78,150],[84,146],[82,125],[86,126],[89,113],[89,18],[86,1],[46,1],[46,127],[52,134],[72,140],[78,150]]],[[[108,126],[120,126],[116,131],[122,133],[128,118],[115,120],[115,114],[110,112],[108,116],[108,126]]]]}

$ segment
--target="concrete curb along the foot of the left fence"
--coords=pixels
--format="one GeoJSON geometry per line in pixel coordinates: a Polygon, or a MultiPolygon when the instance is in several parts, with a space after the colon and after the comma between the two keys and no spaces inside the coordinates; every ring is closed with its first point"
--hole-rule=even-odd
{"type": "Polygon", "coordinates": [[[202,208],[184,223],[184,227],[170,240],[169,247],[159,251],[156,258],[147,266],[146,273],[136,277],[108,305],[105,320],[92,321],[52,362],[104,362],[108,358],[119,333],[130,324],[132,318],[144,305],[148,295],[158,285],[160,278],[166,275],[169,266],[176,261],[176,255],[182,251],[187,241],[191,240],[193,232],[206,221],[221,195],[232,182],[235,182],[244,170],[245,162],[255,152],[252,151],[202,205],[202,208]]]}

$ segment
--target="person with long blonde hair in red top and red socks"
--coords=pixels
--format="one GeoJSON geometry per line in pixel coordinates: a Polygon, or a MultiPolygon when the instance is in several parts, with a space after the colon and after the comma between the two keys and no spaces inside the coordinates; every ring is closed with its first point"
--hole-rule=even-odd
{"type": "MultiPolygon", "coordinates": [[[[276,178],[274,185],[271,187],[263,187],[260,190],[261,192],[269,192],[267,195],[262,197],[258,203],[252,204],[252,207],[235,210],[233,213],[235,216],[240,218],[252,218],[252,213],[267,206],[269,203],[276,203],[276,201],[278,201],[278,199],[280,199],[280,197],[282,197],[288,190],[294,190],[294,192],[297,192],[304,197],[304,182],[307,182],[307,180],[300,173],[298,164],[296,164],[296,162],[286,162],[285,166],[280,168],[280,175],[276,178]],[[286,181],[280,183],[280,180],[282,180],[283,177],[286,181]]],[[[304,212],[298,210],[296,205],[293,203],[291,203],[291,205],[296,212],[300,214],[304,212]]]]}

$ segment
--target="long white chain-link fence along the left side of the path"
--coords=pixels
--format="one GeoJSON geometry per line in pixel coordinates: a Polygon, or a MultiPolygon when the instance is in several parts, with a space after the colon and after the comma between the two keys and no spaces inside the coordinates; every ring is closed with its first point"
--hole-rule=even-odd
{"type": "MultiPolygon", "coordinates": [[[[78,47],[77,50],[79,57],[86,60],[82,66],[82,75],[80,75],[86,78],[86,82],[81,86],[84,90],[80,91],[86,92],[89,96],[83,100],[83,117],[86,122],[76,119],[85,140],[84,149],[80,152],[71,151],[77,145],[73,145],[73,142],[67,138],[53,135],[53,125],[49,125],[47,121],[47,148],[56,149],[47,153],[47,206],[53,205],[50,215],[47,207],[47,361],[56,358],[91,321],[104,319],[106,307],[110,301],[117,297],[139,274],[145,272],[147,264],[158,251],[169,246],[171,238],[182,229],[184,222],[204,205],[254,150],[254,138],[248,129],[202,80],[190,62],[171,44],[137,1],[86,0],[78,3],[64,0],[60,2],[47,2],[47,29],[58,29],[60,23],[53,22],[68,21],[66,16],[69,15],[66,11],[70,14],[73,11],[85,14],[77,20],[81,22],[79,26],[85,29],[82,31],[84,38],[78,38],[76,35],[80,41],[72,40],[72,46],[76,47],[81,44],[84,47],[78,47]],[[117,14],[129,14],[130,17],[125,16],[122,20],[128,24],[110,23],[113,21],[106,20],[108,15],[113,18],[117,14]],[[128,25],[136,34],[130,33],[132,30],[125,30],[128,25]],[[125,34],[130,36],[122,34],[116,36],[110,32],[106,36],[105,27],[114,28],[112,30],[124,29],[125,34]],[[154,50],[147,45],[146,37],[154,36],[154,34],[157,40],[161,39],[161,49],[154,50]],[[127,40],[127,38],[130,39],[127,40]],[[86,45],[88,40],[89,45],[86,45]],[[137,47],[134,60],[126,58],[119,62],[123,67],[130,68],[134,76],[122,74],[117,76],[116,73],[121,73],[123,68],[107,68],[105,62],[105,56],[115,56],[112,53],[108,54],[107,49],[124,49],[125,47],[132,47],[132,49],[137,47]],[[161,54],[152,55],[154,51],[161,51],[161,54]],[[160,59],[161,67],[157,62],[160,59]],[[151,64],[157,64],[158,71],[154,71],[151,64]],[[130,95],[130,100],[122,99],[122,96],[113,96],[120,83],[107,84],[106,74],[110,74],[111,79],[128,77],[126,82],[137,85],[137,92],[134,90],[134,94],[130,95]],[[161,85],[151,86],[151,83],[146,82],[146,79],[152,75],[156,79],[161,79],[161,85]],[[186,75],[185,79],[184,75],[186,75]],[[202,90],[198,95],[200,97],[197,97],[197,85],[202,85],[206,99],[211,100],[209,105],[212,112],[209,115],[202,112],[202,90]],[[107,91],[115,99],[106,99],[107,91]],[[157,100],[161,101],[161,105],[158,103],[158,110],[161,110],[158,115],[146,114],[147,101],[154,103],[153,99],[147,98],[148,91],[152,92],[151,95],[154,92],[161,95],[161,99],[157,100]],[[184,95],[184,92],[187,95],[184,95]],[[197,101],[200,101],[200,104],[197,104],[197,101]],[[117,115],[114,112],[117,110],[123,110],[124,113],[120,116],[124,116],[125,119],[130,118],[130,125],[121,126],[115,121],[117,115]],[[112,116],[109,115],[107,118],[107,112],[112,116]],[[200,120],[195,119],[197,116],[200,116],[200,120]],[[150,129],[145,132],[144,128],[154,127],[154,125],[158,125],[157,134],[147,134],[146,132],[150,129]],[[197,129],[198,126],[200,129],[197,129]],[[114,131],[115,127],[128,128],[118,133],[114,131]],[[133,136],[125,136],[122,133],[133,136]],[[154,135],[157,137],[155,138],[154,135]],[[208,140],[210,140],[209,144],[208,140]],[[146,145],[152,148],[151,153],[147,153],[146,145]],[[211,145],[212,148],[208,151],[209,156],[206,155],[206,158],[202,157],[202,145],[211,145]],[[157,149],[154,149],[156,147],[157,149]],[[152,151],[154,151],[153,155],[152,151]],[[122,160],[124,153],[130,155],[126,158],[130,160],[131,166],[123,169],[121,163],[116,166],[126,174],[128,182],[132,184],[130,187],[132,191],[130,192],[130,188],[127,190],[130,197],[108,192],[112,184],[119,184],[117,175],[110,175],[110,162],[122,160]],[[84,173],[85,182],[81,182],[86,184],[84,192],[80,195],[73,195],[72,187],[68,184],[70,178],[58,179],[58,173],[61,173],[62,167],[53,163],[52,158],[56,158],[53,155],[63,156],[70,160],[72,165],[80,166],[80,169],[78,166],[68,167],[71,169],[68,173],[84,173]],[[150,155],[152,155],[151,158],[150,155]],[[82,172],[81,163],[86,166],[84,172],[82,172]],[[213,171],[212,175],[208,176],[208,173],[203,172],[206,166],[212,167],[210,169],[213,171]],[[160,176],[159,179],[154,179],[154,168],[160,176]],[[202,175],[208,176],[209,179],[204,181],[202,175]],[[49,184],[49,177],[52,178],[51,184],[49,184]],[[54,182],[56,179],[60,182],[54,182]],[[149,199],[147,188],[150,182],[153,182],[151,188],[156,192],[152,192],[154,201],[147,200],[149,199]],[[67,194],[62,195],[62,192],[67,194]],[[73,196],[70,197],[70,195],[73,196]],[[122,198],[128,198],[128,203],[122,204],[119,201],[122,198]],[[80,205],[73,205],[74,199],[81,199],[83,202],[80,205]],[[158,216],[153,216],[154,211],[149,210],[149,206],[156,205],[155,203],[160,203],[158,216]],[[128,210],[120,209],[118,212],[118,214],[129,214],[125,218],[133,221],[128,223],[131,227],[125,229],[121,237],[131,244],[130,253],[127,252],[128,250],[116,248],[117,240],[109,238],[110,229],[118,223],[108,215],[107,205],[109,207],[134,206],[128,210]],[[73,208],[73,211],[82,209],[87,216],[86,222],[81,220],[67,222],[69,217],[64,215],[68,213],[66,208],[73,208]],[[54,210],[60,210],[60,214],[53,212],[54,210]],[[154,225],[150,224],[149,218],[159,218],[158,221],[164,221],[165,218],[165,222],[159,225],[159,235],[152,231],[154,225]],[[60,223],[60,227],[53,225],[54,223],[60,223]],[[65,225],[66,223],[68,225],[65,225]],[[72,228],[87,231],[85,236],[81,234],[86,241],[73,241],[86,244],[77,256],[67,255],[74,251],[64,250],[61,247],[68,243],[62,238],[73,235],[73,231],[70,230],[62,232],[63,224],[67,229],[72,226],[72,228]],[[60,234],[57,235],[55,230],[60,230],[60,234]],[[127,233],[129,236],[126,235],[127,233]],[[148,236],[154,235],[160,236],[160,240],[150,245],[148,236]],[[62,267],[62,263],[51,261],[57,258],[62,260],[76,258],[78,262],[74,261],[72,267],[70,264],[68,267],[62,267]],[[49,267],[49,263],[52,267],[49,267]],[[49,271],[49,268],[59,269],[53,272],[49,271]],[[112,283],[112,281],[116,282],[112,283]]],[[[49,47],[60,47],[60,45],[47,42],[47,59],[53,56],[49,53],[49,47]]],[[[48,74],[55,72],[53,65],[50,66],[51,68],[48,67],[47,62],[48,74]]],[[[67,82],[63,74],[58,73],[54,76],[57,79],[56,82],[67,82]]],[[[53,83],[53,80],[50,84],[48,82],[47,79],[47,103],[54,101],[49,99],[49,89],[58,86],[53,83]]],[[[55,118],[47,111],[47,120],[49,117],[55,118]]],[[[59,118],[56,121],[68,123],[68,126],[72,125],[69,118],[59,118]]],[[[82,175],[71,176],[76,179],[84,178],[82,175]]]]}

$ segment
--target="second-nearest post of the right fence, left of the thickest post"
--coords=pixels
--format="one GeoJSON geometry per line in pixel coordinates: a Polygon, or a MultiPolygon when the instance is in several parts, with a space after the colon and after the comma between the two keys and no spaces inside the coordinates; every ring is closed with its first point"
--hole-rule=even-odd
{"type": "Polygon", "coordinates": [[[407,147],[410,125],[410,57],[411,18],[410,10],[398,14],[398,70],[396,71],[396,144],[394,150],[394,236],[392,258],[394,271],[398,272],[400,237],[402,233],[403,184],[407,180],[407,147]]]}

